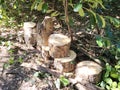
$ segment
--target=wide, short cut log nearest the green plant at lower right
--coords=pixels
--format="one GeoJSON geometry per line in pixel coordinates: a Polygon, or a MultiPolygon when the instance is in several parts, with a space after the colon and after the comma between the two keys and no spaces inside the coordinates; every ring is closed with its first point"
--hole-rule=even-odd
{"type": "Polygon", "coordinates": [[[75,70],[76,80],[90,83],[98,83],[101,79],[102,67],[93,61],[82,61],[77,64],[75,70]]]}

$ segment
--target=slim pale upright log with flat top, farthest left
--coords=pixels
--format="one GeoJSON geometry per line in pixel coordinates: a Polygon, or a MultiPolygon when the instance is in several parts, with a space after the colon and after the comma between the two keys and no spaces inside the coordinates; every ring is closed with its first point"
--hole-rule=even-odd
{"type": "Polygon", "coordinates": [[[24,22],[24,39],[28,48],[36,45],[36,24],[34,22],[24,22]]]}

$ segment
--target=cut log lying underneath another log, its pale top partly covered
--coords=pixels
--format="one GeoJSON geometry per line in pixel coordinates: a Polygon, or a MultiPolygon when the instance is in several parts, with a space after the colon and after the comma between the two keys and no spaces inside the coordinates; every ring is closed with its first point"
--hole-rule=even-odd
{"type": "Polygon", "coordinates": [[[54,59],[54,67],[60,72],[70,72],[75,69],[76,53],[70,50],[68,54],[68,57],[54,59]]]}

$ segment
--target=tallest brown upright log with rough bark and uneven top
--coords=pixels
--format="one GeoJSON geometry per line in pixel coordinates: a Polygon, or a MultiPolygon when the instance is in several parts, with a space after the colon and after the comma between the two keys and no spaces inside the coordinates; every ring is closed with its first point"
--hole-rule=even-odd
{"type": "Polygon", "coordinates": [[[46,16],[42,23],[37,24],[37,45],[48,46],[48,38],[53,33],[53,20],[46,16]]]}

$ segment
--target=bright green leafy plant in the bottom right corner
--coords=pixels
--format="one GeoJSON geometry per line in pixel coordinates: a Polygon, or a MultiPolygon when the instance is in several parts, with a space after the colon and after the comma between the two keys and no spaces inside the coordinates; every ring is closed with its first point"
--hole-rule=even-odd
{"type": "Polygon", "coordinates": [[[119,90],[120,87],[120,61],[117,65],[111,66],[106,63],[105,74],[100,86],[107,90],[119,90]]]}

